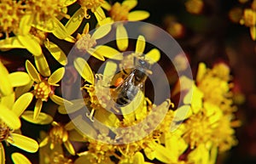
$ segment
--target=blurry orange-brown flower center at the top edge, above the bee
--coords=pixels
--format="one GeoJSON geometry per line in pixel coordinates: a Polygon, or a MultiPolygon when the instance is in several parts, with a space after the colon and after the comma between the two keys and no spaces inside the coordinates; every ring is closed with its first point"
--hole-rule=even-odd
{"type": "Polygon", "coordinates": [[[129,8],[120,3],[114,3],[109,14],[114,21],[128,20],[129,8]]]}

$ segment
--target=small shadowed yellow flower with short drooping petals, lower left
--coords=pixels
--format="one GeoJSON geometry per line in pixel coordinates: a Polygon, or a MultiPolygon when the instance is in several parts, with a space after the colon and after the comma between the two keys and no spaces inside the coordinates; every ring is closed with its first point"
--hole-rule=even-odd
{"type": "Polygon", "coordinates": [[[52,128],[49,130],[49,135],[44,138],[44,140],[39,144],[40,147],[44,147],[49,144],[49,149],[54,150],[55,146],[58,144],[64,144],[65,148],[71,155],[75,155],[75,150],[73,145],[68,139],[68,127],[72,124],[71,122],[64,127],[57,122],[52,122],[52,128]]]}

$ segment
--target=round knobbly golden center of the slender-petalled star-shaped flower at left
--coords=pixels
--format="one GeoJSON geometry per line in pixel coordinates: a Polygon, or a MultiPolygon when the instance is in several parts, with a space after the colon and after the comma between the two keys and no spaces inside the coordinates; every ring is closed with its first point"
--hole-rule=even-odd
{"type": "Polygon", "coordinates": [[[42,81],[35,84],[34,94],[36,99],[42,99],[42,101],[47,101],[50,94],[53,94],[53,90],[48,82],[42,81]]]}

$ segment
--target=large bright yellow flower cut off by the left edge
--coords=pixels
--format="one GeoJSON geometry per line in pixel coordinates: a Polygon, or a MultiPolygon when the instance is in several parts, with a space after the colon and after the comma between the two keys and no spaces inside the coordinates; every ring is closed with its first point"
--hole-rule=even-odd
{"type": "Polygon", "coordinates": [[[27,81],[27,74],[25,72],[9,74],[0,61],[0,75],[2,76],[0,80],[0,161],[4,163],[3,141],[27,152],[36,152],[38,143],[15,132],[21,126],[20,115],[32,101],[32,93],[24,93],[15,100],[13,87],[23,86],[30,82],[30,80],[27,81]]]}

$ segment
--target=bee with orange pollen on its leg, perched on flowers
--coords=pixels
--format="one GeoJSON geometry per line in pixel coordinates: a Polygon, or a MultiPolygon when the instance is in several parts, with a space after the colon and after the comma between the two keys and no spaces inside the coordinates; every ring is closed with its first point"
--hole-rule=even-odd
{"type": "Polygon", "coordinates": [[[135,58],[135,65],[136,67],[125,79],[119,77],[115,82],[113,100],[118,107],[129,105],[139,90],[144,87],[148,75],[152,74],[152,71],[149,70],[151,64],[146,59],[135,58]]]}

